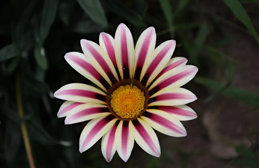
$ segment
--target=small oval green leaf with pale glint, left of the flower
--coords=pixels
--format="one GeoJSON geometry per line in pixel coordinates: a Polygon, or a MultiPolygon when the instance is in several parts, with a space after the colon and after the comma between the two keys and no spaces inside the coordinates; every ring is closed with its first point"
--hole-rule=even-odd
{"type": "Polygon", "coordinates": [[[43,70],[46,70],[48,68],[48,62],[47,62],[47,58],[43,47],[40,47],[38,45],[34,47],[34,58],[37,64],[43,70]]]}

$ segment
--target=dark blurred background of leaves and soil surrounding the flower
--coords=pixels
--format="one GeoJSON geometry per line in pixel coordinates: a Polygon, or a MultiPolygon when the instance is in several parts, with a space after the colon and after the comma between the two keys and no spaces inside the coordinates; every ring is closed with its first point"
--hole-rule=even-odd
{"type": "Polygon", "coordinates": [[[30,167],[25,132],[29,158],[37,168],[259,167],[258,0],[0,3],[1,168],[30,167]],[[87,122],[64,125],[64,118],[56,116],[62,104],[53,98],[57,89],[74,82],[91,85],[67,64],[64,54],[82,52],[80,39],[98,43],[102,31],[114,37],[120,23],[129,27],[135,43],[143,30],[154,26],[156,45],[175,39],[173,57],[186,57],[187,64],[199,67],[184,86],[198,97],[189,104],[198,118],[183,122],[186,137],[157,132],[160,158],[135,143],[127,163],[117,153],[107,163],[100,141],[80,154],[79,137],[87,122]]]}

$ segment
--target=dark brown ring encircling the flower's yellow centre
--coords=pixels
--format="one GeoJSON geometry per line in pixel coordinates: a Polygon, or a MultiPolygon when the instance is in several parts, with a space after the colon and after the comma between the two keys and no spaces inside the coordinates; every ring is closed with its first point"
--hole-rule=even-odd
{"type": "MultiPolygon", "coordinates": [[[[114,83],[108,90],[107,90],[107,93],[109,95],[112,94],[112,92],[114,90],[116,90],[119,86],[126,86],[126,85],[131,85],[132,84],[132,80],[131,79],[123,79],[123,80],[120,80],[120,81],[117,81],[116,83],[114,83]]],[[[145,104],[144,104],[144,109],[140,112],[140,114],[134,118],[121,118],[120,116],[118,116],[112,109],[111,107],[111,98],[109,96],[106,96],[106,103],[108,105],[108,109],[110,110],[110,112],[116,117],[118,118],[119,120],[124,120],[124,121],[130,121],[130,120],[135,120],[137,119],[139,116],[141,116],[147,109],[147,105],[148,105],[148,99],[149,99],[149,93],[147,91],[147,89],[137,80],[133,79],[133,85],[138,87],[143,93],[144,93],[144,96],[145,96],[145,104]]]]}

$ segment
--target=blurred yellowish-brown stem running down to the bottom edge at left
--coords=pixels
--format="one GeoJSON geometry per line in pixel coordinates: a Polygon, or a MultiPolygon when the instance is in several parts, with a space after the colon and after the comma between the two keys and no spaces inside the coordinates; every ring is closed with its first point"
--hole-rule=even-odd
{"type": "MultiPolygon", "coordinates": [[[[23,104],[22,104],[22,101],[21,101],[21,82],[20,82],[20,76],[19,75],[17,75],[17,77],[16,77],[16,96],[17,96],[18,113],[21,116],[21,118],[23,118],[24,114],[23,114],[23,104]]],[[[35,168],[34,160],[33,160],[33,157],[32,157],[30,140],[29,140],[27,129],[26,129],[25,121],[21,122],[21,133],[23,135],[24,146],[25,146],[25,150],[26,150],[26,153],[27,153],[30,168],[35,168]]]]}

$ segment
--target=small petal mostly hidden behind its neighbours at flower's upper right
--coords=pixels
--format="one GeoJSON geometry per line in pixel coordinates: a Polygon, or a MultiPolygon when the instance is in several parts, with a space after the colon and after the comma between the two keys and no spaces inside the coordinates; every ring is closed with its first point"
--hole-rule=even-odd
{"type": "Polygon", "coordinates": [[[163,75],[164,73],[166,73],[167,71],[169,71],[169,70],[171,70],[171,69],[173,69],[175,67],[186,65],[187,61],[188,60],[186,58],[184,58],[184,57],[171,58],[168,61],[166,67],[164,67],[164,69],[155,77],[154,80],[156,80],[161,75],[163,75]]]}

